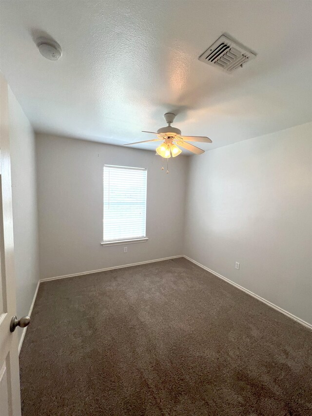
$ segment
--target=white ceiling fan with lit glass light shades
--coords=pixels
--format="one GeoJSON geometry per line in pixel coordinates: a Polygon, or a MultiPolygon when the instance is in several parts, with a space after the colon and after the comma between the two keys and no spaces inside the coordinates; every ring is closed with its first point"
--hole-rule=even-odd
{"type": "Polygon", "coordinates": [[[159,147],[156,148],[156,152],[160,156],[166,159],[169,159],[169,157],[171,156],[176,157],[178,154],[181,153],[181,149],[179,149],[178,146],[188,151],[192,151],[195,154],[201,154],[205,152],[204,150],[199,149],[198,147],[191,145],[188,142],[212,143],[212,140],[210,140],[208,137],[181,136],[181,130],[176,129],[176,127],[171,127],[171,124],[173,123],[176,117],[176,114],[166,113],[164,117],[165,117],[166,122],[168,123],[168,126],[161,127],[160,129],[157,130],[157,132],[143,131],[143,133],[156,134],[157,135],[156,139],[143,140],[141,142],[136,142],[136,143],[127,143],[127,144],[124,144],[123,146],[132,146],[132,145],[136,145],[139,143],[163,141],[163,143],[159,147]]]}

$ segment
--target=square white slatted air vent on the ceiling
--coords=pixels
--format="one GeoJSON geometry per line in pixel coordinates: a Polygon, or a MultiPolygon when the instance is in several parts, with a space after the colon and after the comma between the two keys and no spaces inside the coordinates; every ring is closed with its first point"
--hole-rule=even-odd
{"type": "Polygon", "coordinates": [[[254,52],[222,35],[198,59],[231,74],[255,57],[254,52]]]}

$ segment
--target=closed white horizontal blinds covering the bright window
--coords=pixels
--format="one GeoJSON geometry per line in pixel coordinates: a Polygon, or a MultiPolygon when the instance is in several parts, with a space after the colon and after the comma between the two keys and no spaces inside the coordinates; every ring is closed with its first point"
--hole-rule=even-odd
{"type": "Polygon", "coordinates": [[[146,169],[104,166],[104,243],[146,237],[146,182],[146,169]]]}

